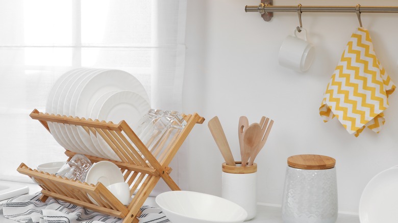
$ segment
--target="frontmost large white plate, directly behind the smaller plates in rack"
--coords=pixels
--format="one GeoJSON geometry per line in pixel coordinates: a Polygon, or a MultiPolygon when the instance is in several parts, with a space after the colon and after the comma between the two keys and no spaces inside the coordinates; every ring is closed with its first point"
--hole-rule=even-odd
{"type": "MultiPolygon", "coordinates": [[[[83,80],[81,85],[76,89],[70,103],[70,115],[87,117],[90,115],[91,109],[99,97],[110,91],[123,90],[133,91],[142,96],[146,101],[149,101],[144,87],[132,74],[121,70],[103,70],[90,76],[88,80],[83,80]]],[[[94,147],[89,134],[79,134],[79,132],[84,133],[84,129],[76,126],[71,127],[75,137],[82,137],[84,143],[90,144],[87,145],[89,148],[94,147]]],[[[108,158],[111,157],[108,156],[108,158]]],[[[112,156],[111,159],[114,158],[112,156]]],[[[114,160],[121,161],[118,157],[114,160]]]]}

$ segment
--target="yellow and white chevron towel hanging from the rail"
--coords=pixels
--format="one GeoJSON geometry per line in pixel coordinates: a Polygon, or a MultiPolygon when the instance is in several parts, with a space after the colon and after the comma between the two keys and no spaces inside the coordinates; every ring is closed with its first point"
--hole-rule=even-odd
{"type": "Polygon", "coordinates": [[[356,137],[365,126],[379,133],[387,98],[394,90],[394,83],[376,58],[369,32],[359,27],[328,83],[319,114],[324,122],[336,116],[356,137]]]}

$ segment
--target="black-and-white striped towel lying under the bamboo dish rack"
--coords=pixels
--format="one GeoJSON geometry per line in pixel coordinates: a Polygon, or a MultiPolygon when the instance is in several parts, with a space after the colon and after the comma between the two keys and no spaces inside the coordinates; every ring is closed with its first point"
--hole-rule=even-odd
{"type": "MultiPolygon", "coordinates": [[[[3,203],[4,217],[27,223],[121,223],[118,217],[101,214],[53,198],[39,200],[41,193],[22,195],[3,203]]],[[[160,208],[142,206],[140,223],[170,222],[160,208]]]]}

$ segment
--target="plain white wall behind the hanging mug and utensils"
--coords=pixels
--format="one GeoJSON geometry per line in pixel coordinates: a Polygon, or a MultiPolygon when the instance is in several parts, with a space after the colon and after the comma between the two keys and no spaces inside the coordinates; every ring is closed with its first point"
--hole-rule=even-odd
{"type": "MultiPolygon", "coordinates": [[[[274,0],[274,5],[389,6],[396,1],[274,0]]],[[[258,155],[258,202],[281,204],[286,158],[295,154],[334,157],[339,210],[358,212],[362,190],[377,173],[398,164],[398,92],[390,96],[380,134],[365,129],[356,138],[337,119],[324,123],[318,108],[327,83],[352,32],[355,13],[303,13],[303,27],[316,46],[306,73],[278,65],[283,39],[299,24],[296,13],[275,13],[265,22],[245,5],[259,0],[188,1],[183,111],[208,120],[218,116],[235,159],[239,160],[237,126],[240,116],[275,123],[258,155]]],[[[379,60],[398,84],[398,14],[362,13],[379,60]]],[[[197,125],[186,143],[189,188],[220,195],[222,157],[207,127],[197,125]]]]}

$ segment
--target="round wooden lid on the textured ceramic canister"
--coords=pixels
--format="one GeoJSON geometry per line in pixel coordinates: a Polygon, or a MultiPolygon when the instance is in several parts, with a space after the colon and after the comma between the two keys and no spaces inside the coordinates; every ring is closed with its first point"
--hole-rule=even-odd
{"type": "Polygon", "coordinates": [[[334,168],[336,160],[329,156],[304,154],[287,158],[287,164],[292,168],[304,170],[326,170],[334,168]]]}

